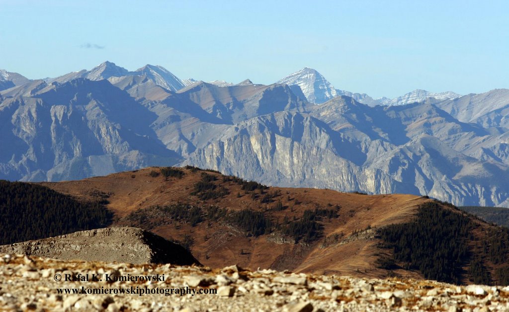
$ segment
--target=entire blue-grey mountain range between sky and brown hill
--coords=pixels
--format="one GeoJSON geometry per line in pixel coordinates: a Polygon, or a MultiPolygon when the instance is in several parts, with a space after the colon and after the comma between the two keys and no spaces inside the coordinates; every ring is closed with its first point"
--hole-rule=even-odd
{"type": "Polygon", "coordinates": [[[373,99],[310,68],[269,86],[110,62],[41,80],[0,73],[2,179],[189,164],[267,185],[509,207],[509,90],[373,99]]]}

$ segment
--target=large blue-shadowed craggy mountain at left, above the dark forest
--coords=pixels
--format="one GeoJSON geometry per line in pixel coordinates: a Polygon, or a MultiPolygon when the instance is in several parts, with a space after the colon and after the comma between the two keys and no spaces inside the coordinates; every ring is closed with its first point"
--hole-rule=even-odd
{"type": "Polygon", "coordinates": [[[106,80],[54,82],[31,97],[6,98],[0,176],[58,181],[175,163],[179,156],[150,128],[156,118],[106,80]]]}

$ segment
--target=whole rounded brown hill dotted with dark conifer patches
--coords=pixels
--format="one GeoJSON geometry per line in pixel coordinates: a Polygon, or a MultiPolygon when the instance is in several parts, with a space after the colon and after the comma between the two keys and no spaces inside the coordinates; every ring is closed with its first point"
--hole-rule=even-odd
{"type": "MultiPolygon", "coordinates": [[[[455,268],[454,278],[444,275],[442,280],[505,280],[506,269],[500,257],[507,256],[509,250],[504,242],[500,245],[492,238],[499,229],[421,196],[266,187],[194,167],[151,167],[42,184],[83,200],[107,200],[107,208],[115,214],[114,226],[136,226],[178,241],[210,267],[238,264],[251,269],[318,274],[442,276],[447,274],[447,263],[435,264],[427,259],[422,264],[409,255],[432,255],[436,248],[426,240],[436,239],[430,235],[443,231],[443,235],[449,235],[448,225],[440,218],[453,217],[464,230],[462,236],[450,234],[458,241],[440,244],[461,246],[463,251],[455,254],[457,261],[450,264],[455,268]],[[447,213],[445,217],[423,215],[425,208],[419,207],[435,207],[430,211],[447,213]],[[386,228],[389,224],[400,225],[386,228]],[[382,228],[393,232],[381,232],[382,228]]],[[[437,252],[433,257],[441,262],[447,252],[437,252]]]]}

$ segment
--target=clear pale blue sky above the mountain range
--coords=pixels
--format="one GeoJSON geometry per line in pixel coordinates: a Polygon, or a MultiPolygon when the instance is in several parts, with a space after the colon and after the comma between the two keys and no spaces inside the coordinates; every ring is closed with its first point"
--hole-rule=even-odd
{"type": "Polygon", "coordinates": [[[0,68],[35,79],[114,62],[269,84],[305,66],[396,97],[509,88],[508,1],[0,0],[0,68]]]}

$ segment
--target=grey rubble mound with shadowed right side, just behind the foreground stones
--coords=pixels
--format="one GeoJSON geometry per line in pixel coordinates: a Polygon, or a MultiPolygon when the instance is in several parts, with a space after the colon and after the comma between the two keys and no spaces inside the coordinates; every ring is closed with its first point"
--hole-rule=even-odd
{"type": "Polygon", "coordinates": [[[0,253],[62,260],[200,263],[184,247],[137,228],[105,228],[0,246],[0,253]]]}

